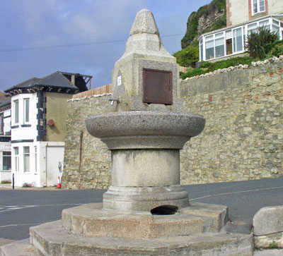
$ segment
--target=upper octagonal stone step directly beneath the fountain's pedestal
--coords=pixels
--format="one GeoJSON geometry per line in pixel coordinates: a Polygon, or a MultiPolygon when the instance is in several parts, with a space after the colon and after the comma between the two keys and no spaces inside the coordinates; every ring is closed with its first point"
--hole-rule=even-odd
{"type": "Polygon", "coordinates": [[[158,238],[216,232],[228,220],[227,207],[190,204],[178,214],[152,215],[150,212],[117,212],[91,203],[64,209],[62,226],[88,237],[158,238]]]}

